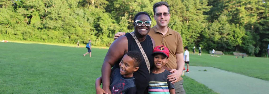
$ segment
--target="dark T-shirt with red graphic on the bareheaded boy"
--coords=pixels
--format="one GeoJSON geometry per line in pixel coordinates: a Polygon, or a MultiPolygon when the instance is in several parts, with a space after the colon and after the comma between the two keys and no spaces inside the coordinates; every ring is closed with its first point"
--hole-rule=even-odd
{"type": "Polygon", "coordinates": [[[111,70],[109,89],[112,94],[135,94],[134,77],[123,77],[119,68],[111,70]]]}

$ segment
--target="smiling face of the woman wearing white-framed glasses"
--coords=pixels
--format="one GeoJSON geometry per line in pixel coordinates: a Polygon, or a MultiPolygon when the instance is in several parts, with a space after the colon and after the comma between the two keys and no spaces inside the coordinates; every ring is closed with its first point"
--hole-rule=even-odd
{"type": "MultiPolygon", "coordinates": [[[[137,25],[137,22],[138,21],[135,21],[133,23],[133,26],[134,26],[134,32],[139,35],[139,36],[146,36],[148,34],[148,32],[150,31],[150,27],[151,27],[151,24],[149,26],[146,26],[145,25],[145,21],[151,21],[150,20],[150,17],[148,17],[147,15],[145,14],[141,14],[139,16],[137,16],[136,20],[140,20],[143,22],[143,24],[141,26],[140,25],[140,21],[139,21],[139,25],[137,25]]],[[[146,24],[148,24],[148,22],[146,22],[146,24]]]]}

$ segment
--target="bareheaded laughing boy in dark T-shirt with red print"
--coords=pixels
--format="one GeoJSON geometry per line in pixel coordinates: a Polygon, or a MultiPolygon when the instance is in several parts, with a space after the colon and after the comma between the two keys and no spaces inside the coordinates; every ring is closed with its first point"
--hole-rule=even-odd
{"type": "MultiPolygon", "coordinates": [[[[109,86],[111,94],[136,93],[133,73],[139,69],[142,59],[142,54],[137,51],[129,51],[123,56],[121,62],[119,63],[120,68],[114,68],[111,70],[109,86]]],[[[97,78],[95,82],[97,93],[107,93],[101,89],[101,83],[102,78],[97,78]]]]}

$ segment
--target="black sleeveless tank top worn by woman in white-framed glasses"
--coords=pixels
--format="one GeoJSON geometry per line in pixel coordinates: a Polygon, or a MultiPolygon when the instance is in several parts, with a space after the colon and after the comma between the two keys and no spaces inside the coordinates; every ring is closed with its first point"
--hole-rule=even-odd
{"type": "MultiPolygon", "coordinates": [[[[136,50],[138,52],[141,53],[138,45],[136,44],[134,38],[132,37],[132,35],[130,33],[126,33],[125,36],[128,39],[128,51],[132,51],[132,50],[136,50]]],[[[153,66],[153,62],[154,62],[154,57],[152,55],[153,53],[153,45],[152,45],[152,41],[149,35],[147,35],[146,39],[143,42],[140,42],[144,52],[146,53],[148,60],[150,62],[150,68],[152,68],[153,66]]],[[[142,53],[141,53],[142,54],[142,53]]],[[[119,62],[117,62],[114,67],[119,67],[119,63],[121,62],[121,59],[119,60],[119,62]]],[[[114,68],[113,67],[113,68],[114,68]]],[[[148,72],[148,68],[146,65],[146,62],[143,58],[141,65],[139,66],[139,69],[137,71],[134,72],[134,81],[136,84],[136,94],[144,94],[148,83],[149,83],[149,79],[150,79],[150,74],[148,72]]]]}

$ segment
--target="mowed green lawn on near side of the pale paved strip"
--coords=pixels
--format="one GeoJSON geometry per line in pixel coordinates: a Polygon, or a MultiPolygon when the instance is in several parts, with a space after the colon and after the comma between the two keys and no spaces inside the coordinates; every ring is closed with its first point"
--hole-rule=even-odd
{"type": "MultiPolygon", "coordinates": [[[[107,50],[93,48],[92,57],[83,57],[85,46],[0,42],[0,92],[94,94],[107,50]]],[[[183,79],[187,94],[217,94],[189,77],[183,79]]]]}

